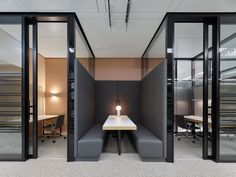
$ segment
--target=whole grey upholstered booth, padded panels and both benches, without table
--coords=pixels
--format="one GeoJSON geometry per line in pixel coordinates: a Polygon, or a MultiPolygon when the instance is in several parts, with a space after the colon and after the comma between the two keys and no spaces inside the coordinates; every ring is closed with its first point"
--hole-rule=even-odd
{"type": "MultiPolygon", "coordinates": [[[[95,81],[75,62],[75,158],[96,161],[103,150],[102,125],[115,114],[117,81],[95,81]]],[[[143,161],[166,158],[166,62],[141,81],[119,81],[122,114],[137,124],[131,139],[143,161]]]]}

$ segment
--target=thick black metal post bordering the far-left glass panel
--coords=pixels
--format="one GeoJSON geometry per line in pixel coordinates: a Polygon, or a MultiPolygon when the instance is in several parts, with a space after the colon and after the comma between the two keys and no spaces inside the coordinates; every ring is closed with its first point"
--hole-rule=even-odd
{"type": "Polygon", "coordinates": [[[22,16],[22,160],[29,154],[29,19],[22,16]]]}

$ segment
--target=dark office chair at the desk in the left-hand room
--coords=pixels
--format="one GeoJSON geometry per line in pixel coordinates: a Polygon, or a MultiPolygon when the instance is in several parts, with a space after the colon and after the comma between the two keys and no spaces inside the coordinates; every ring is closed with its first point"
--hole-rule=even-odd
{"type": "MultiPolygon", "coordinates": [[[[50,123],[47,125],[43,125],[43,129],[50,132],[47,134],[44,134],[44,136],[49,137],[56,137],[56,136],[62,136],[61,130],[62,130],[62,126],[64,123],[64,119],[65,119],[65,115],[59,115],[55,121],[55,123],[50,123]],[[58,129],[60,129],[60,131],[58,132],[58,129]]],[[[64,137],[65,139],[65,137],[64,137]]],[[[41,140],[41,142],[44,142],[44,139],[41,140]]],[[[56,143],[56,140],[54,139],[52,141],[53,143],[56,143]]]]}

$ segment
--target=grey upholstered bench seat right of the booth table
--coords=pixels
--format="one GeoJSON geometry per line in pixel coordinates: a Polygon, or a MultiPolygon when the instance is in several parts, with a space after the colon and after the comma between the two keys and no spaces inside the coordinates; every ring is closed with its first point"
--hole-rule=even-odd
{"type": "Polygon", "coordinates": [[[133,142],[139,152],[142,161],[162,161],[163,143],[141,124],[137,130],[131,132],[133,142]]]}

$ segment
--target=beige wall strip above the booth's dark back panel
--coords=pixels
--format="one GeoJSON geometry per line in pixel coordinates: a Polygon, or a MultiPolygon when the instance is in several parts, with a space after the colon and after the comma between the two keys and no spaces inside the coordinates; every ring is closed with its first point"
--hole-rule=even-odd
{"type": "Polygon", "coordinates": [[[141,80],[141,59],[97,58],[95,80],[141,80]]]}

